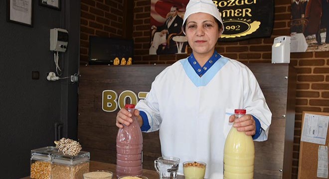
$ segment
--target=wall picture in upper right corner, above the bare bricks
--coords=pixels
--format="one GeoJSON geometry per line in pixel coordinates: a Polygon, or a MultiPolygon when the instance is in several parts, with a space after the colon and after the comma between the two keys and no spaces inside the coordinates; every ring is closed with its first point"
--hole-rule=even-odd
{"type": "Polygon", "coordinates": [[[329,0],[291,1],[291,52],[329,51],[329,0]]]}

